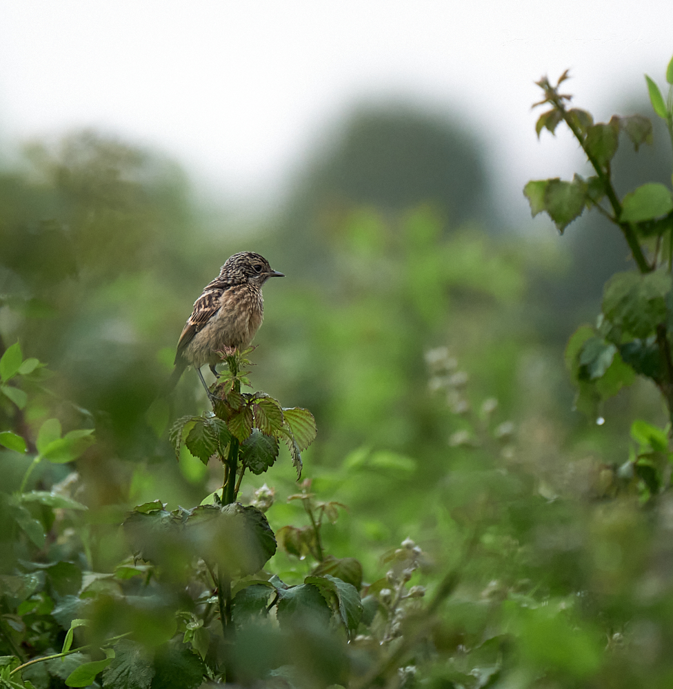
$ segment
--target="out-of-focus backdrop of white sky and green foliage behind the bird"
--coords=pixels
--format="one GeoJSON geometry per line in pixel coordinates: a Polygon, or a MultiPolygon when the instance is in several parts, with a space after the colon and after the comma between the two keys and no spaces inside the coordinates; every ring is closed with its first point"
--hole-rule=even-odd
{"type": "MultiPolygon", "coordinates": [[[[572,411],[565,342],[594,322],[627,247],[587,214],[559,237],[521,189],[586,172],[561,127],[536,138],[543,74],[570,68],[567,90],[596,121],[652,116],[643,73],[664,82],[669,2],[28,0],[0,12],[1,346],[18,339],[55,374],[21,412],[28,433],[53,415],[64,430],[96,427],[78,500],[101,524],[109,506],[192,506],[219,485],[213,462],[175,462],[148,409],[192,302],[241,250],[287,276],[265,287],[254,387],[314,413],[305,476],[348,505],[325,537],[365,579],[408,535],[450,562],[447,505],[488,472],[523,471],[516,490],[531,500],[584,500],[596,467],[627,459],[630,420],[665,422],[643,381],[605,405],[602,426],[572,411]],[[443,347],[458,375],[448,390],[425,357],[443,347]],[[463,442],[487,417],[504,451],[463,442]]],[[[622,194],[670,181],[661,127],[654,142],[637,155],[622,142],[622,194]]],[[[188,371],[171,420],[206,402],[188,371]]],[[[2,413],[16,423],[10,404],[2,413]]],[[[20,476],[8,455],[6,475],[20,476]]],[[[243,498],[264,480],[272,526],[301,523],[284,503],[297,490],[284,450],[243,498]]],[[[601,529],[582,522],[593,535],[554,541],[534,524],[552,517],[522,505],[507,528],[539,547],[548,590],[595,584],[585,555],[601,529]]],[[[99,570],[121,557],[109,538],[92,541],[99,570]]],[[[619,593],[608,560],[596,586],[619,593]]],[[[282,554],[274,566],[305,570],[282,554]]]]}

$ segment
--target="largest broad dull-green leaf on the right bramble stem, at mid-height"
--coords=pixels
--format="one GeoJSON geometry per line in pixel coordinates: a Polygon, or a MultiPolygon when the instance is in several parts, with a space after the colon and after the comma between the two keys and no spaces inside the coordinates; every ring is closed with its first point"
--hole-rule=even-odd
{"type": "Polygon", "coordinates": [[[664,298],[671,284],[670,274],[662,270],[614,274],[603,291],[605,318],[636,338],[646,338],[666,320],[664,298]]]}

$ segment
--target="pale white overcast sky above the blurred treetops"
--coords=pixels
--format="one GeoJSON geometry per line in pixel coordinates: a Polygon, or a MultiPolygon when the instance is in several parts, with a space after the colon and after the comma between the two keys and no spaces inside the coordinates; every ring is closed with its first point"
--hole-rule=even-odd
{"type": "Polygon", "coordinates": [[[353,105],[405,100],[485,134],[523,218],[523,184],[580,161],[537,141],[533,81],[570,67],[602,120],[672,54],[672,0],[0,0],[0,135],[97,127],[264,205],[353,105]]]}

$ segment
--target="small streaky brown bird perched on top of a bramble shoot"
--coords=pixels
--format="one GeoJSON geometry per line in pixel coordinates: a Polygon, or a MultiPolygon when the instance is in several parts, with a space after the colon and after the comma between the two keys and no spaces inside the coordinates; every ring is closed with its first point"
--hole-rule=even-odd
{"type": "Polygon", "coordinates": [[[217,377],[215,364],[222,360],[218,351],[250,345],[262,323],[262,285],[268,278],[283,277],[283,273],[271,269],[268,260],[252,251],[230,256],[219,276],[203,288],[203,294],[194,302],[194,311],[178,340],[168,389],[172,390],[183,371],[192,365],[212,399],[201,367],[208,364],[217,377]]]}

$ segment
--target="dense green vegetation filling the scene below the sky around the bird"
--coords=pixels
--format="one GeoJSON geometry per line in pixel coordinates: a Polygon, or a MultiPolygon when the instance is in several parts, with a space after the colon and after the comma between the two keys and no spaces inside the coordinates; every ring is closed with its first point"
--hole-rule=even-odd
{"type": "MultiPolygon", "coordinates": [[[[91,132],[3,172],[1,686],[670,686],[673,196],[616,181],[619,147],[665,140],[594,123],[566,78],[539,82],[537,133],[569,127],[591,173],[525,195],[562,233],[605,218],[634,263],[562,333],[565,367],[541,316],[562,249],[476,216],[479,152],[436,121],[356,119],[245,236],[91,132]],[[441,184],[410,181],[423,156],[441,184]],[[288,274],[257,347],[221,401],[193,373],[165,398],[240,249],[288,274]]],[[[647,85],[673,143],[672,90],[647,85]]]]}

